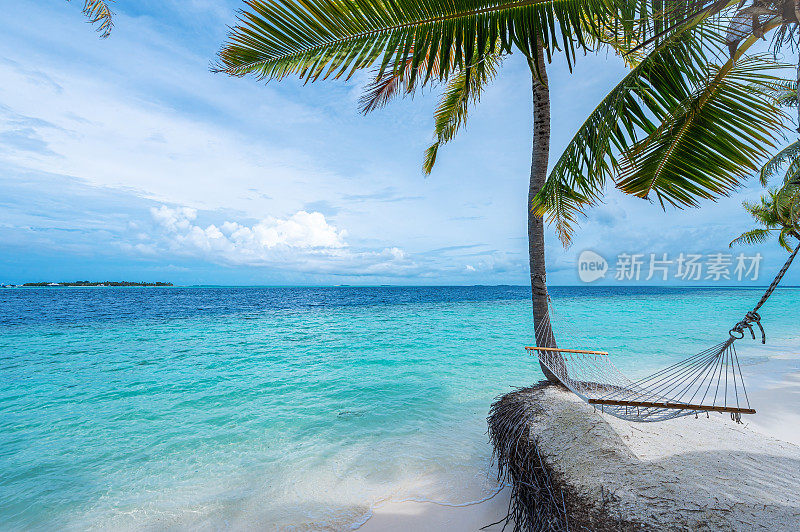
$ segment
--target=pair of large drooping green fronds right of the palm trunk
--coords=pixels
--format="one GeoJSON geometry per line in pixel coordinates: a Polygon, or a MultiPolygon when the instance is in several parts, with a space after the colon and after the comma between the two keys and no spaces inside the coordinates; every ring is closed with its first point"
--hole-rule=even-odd
{"type": "Polygon", "coordinates": [[[795,45],[800,4],[662,5],[678,22],[654,25],[632,50],[641,61],[584,122],[534,198],[565,245],[609,181],[662,208],[698,206],[757,172],[784,127],[771,97],[778,80],[769,71],[778,65],[746,52],[770,32],[774,52],[795,45]]]}

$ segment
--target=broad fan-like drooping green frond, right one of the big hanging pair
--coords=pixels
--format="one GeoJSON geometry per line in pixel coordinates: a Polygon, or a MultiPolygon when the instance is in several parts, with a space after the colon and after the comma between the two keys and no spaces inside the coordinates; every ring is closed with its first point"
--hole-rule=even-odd
{"type": "Polygon", "coordinates": [[[711,66],[710,76],[657,130],[622,154],[617,186],[662,205],[698,205],[728,195],[759,168],[785,116],[752,84],[774,64],[758,57],[711,66]]]}

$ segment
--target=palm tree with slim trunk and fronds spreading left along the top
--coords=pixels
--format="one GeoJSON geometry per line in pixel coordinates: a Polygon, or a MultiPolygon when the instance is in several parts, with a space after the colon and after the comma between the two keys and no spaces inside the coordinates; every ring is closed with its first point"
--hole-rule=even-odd
{"type": "MultiPolygon", "coordinates": [[[[261,80],[295,74],[315,81],[349,78],[379,65],[362,110],[369,112],[417,86],[449,81],[436,113],[436,141],[426,152],[430,172],[441,144],[463,125],[470,104],[512,49],[527,59],[534,103],[528,202],[545,183],[550,148],[546,64],[561,51],[570,66],[576,51],[622,42],[614,30],[632,26],[635,7],[613,0],[246,0],[219,54],[218,72],[261,80]]],[[[553,346],[544,256],[544,223],[528,216],[531,297],[536,341],[553,346]]],[[[547,377],[555,377],[543,368],[547,377]]]]}

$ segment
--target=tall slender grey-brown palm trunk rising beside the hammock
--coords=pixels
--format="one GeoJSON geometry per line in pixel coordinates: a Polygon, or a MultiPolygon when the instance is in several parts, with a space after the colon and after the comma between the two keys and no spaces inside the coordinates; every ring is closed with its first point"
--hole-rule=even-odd
{"type": "MultiPolygon", "coordinates": [[[[533,84],[533,153],[531,154],[531,180],[528,187],[528,256],[531,269],[531,299],[533,303],[533,326],[536,345],[556,347],[550,325],[550,309],[547,295],[547,273],[544,263],[544,220],[533,214],[531,205],[534,196],[544,186],[547,178],[547,161],[550,156],[550,89],[547,86],[547,70],[542,47],[538,50],[538,69],[529,60],[533,84]]],[[[541,365],[541,364],[540,364],[541,365]]],[[[553,373],[542,365],[547,380],[558,382],[553,373]]]]}

